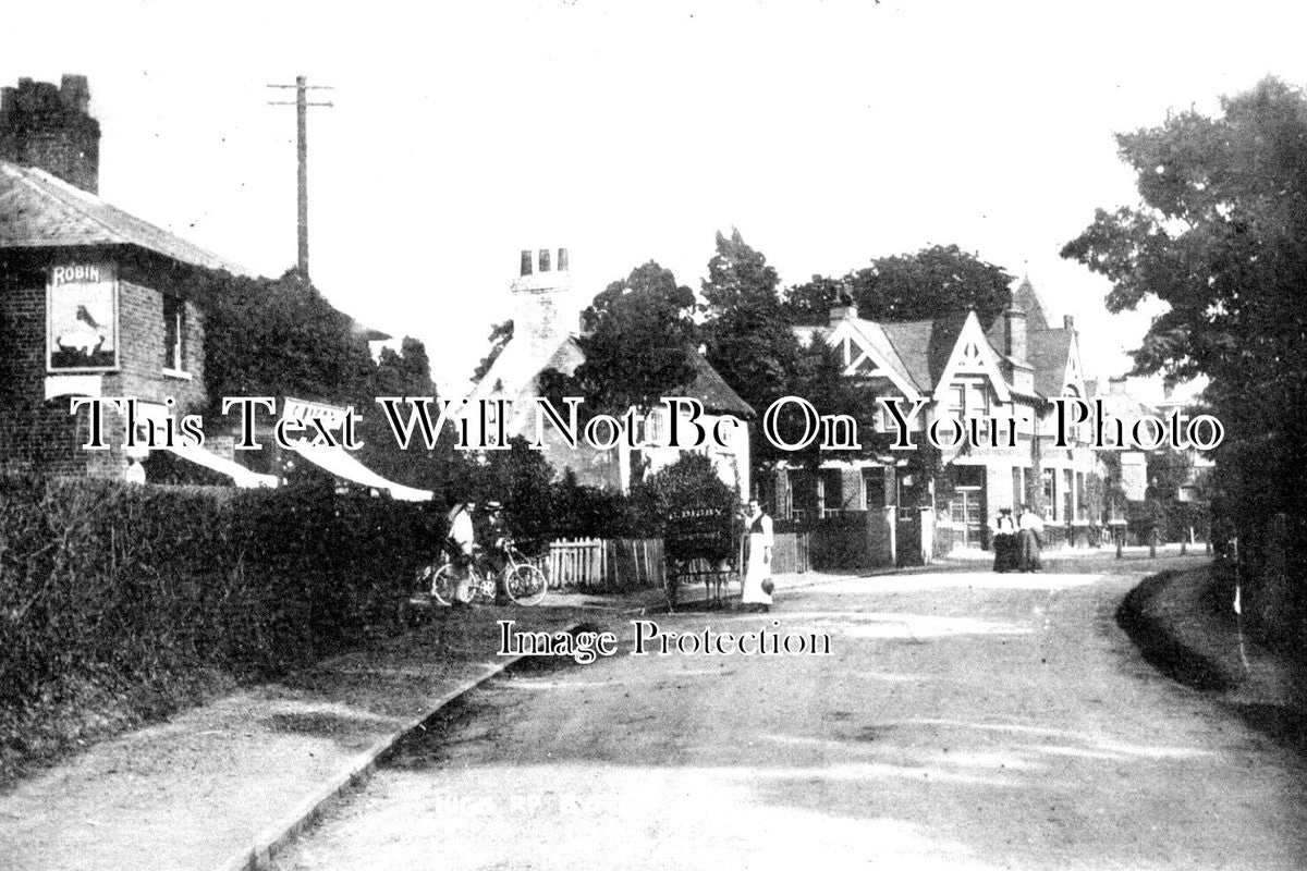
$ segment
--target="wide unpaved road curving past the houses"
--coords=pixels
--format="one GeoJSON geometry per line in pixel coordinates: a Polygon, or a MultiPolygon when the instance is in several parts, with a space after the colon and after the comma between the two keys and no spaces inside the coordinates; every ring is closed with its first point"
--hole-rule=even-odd
{"type": "Polygon", "coordinates": [[[833,653],[497,678],[277,867],[1307,866],[1307,769],[1141,661],[1112,619],[1137,580],[918,572],[659,618],[833,653]]]}

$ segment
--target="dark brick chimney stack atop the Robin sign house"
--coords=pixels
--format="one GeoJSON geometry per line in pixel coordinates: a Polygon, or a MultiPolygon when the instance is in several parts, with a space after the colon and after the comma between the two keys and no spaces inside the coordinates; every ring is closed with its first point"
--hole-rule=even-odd
{"type": "Polygon", "coordinates": [[[0,89],[0,159],[99,193],[99,121],[89,107],[85,76],[64,76],[59,86],[20,78],[0,89]]]}

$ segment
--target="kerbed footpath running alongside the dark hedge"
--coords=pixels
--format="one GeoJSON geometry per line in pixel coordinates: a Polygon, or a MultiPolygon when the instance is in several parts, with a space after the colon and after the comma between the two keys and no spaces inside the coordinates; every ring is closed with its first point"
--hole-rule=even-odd
{"type": "Polygon", "coordinates": [[[498,671],[495,620],[555,631],[654,593],[438,609],[423,628],[89,747],[0,795],[3,871],[243,867],[433,706],[498,671]]]}

